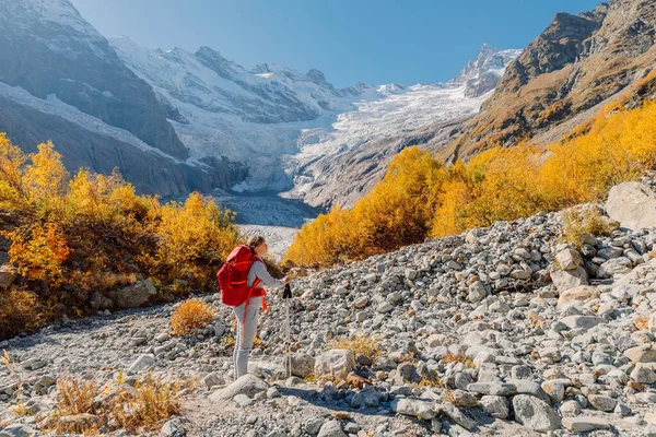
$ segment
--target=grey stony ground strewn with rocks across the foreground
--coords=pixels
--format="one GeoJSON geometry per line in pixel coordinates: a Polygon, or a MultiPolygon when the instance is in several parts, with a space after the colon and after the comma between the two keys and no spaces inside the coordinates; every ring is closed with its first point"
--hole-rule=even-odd
{"type": "MultiPolygon", "coordinates": [[[[607,212],[635,227],[628,211],[651,201],[648,185],[624,186],[607,212]]],[[[2,342],[37,414],[16,416],[15,375],[0,369],[0,436],[38,433],[63,371],[113,383],[118,370],[198,378],[163,436],[656,436],[656,227],[582,235],[574,249],[561,217],[499,222],[294,281],[290,378],[274,292],[253,375],[237,381],[216,295],[201,297],[214,322],[192,335],[171,334],[172,304],[2,342]],[[354,336],[379,353],[333,343],[354,336]]]]}

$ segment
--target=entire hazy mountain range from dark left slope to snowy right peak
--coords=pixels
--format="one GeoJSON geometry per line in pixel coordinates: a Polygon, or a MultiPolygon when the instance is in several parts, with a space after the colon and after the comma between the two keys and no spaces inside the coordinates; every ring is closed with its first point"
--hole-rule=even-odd
{"type": "Polygon", "coordinates": [[[69,0],[0,0],[0,131],[54,140],[70,169],[118,166],[141,191],[286,191],[350,203],[418,129],[476,114],[516,50],[483,46],[446,84],[338,90],[318,70],[254,69],[107,40],[69,0]]]}

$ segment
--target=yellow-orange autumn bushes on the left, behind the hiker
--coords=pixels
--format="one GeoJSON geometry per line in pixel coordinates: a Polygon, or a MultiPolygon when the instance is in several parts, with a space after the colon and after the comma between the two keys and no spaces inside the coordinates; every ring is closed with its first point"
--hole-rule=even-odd
{"type": "Polygon", "coordinates": [[[25,154],[4,134],[0,211],[0,249],[15,265],[0,272],[0,338],[89,314],[93,300],[139,281],[154,284],[153,302],[215,290],[241,239],[232,213],[198,193],[162,204],[118,173],[70,176],[52,143],[25,154]]]}

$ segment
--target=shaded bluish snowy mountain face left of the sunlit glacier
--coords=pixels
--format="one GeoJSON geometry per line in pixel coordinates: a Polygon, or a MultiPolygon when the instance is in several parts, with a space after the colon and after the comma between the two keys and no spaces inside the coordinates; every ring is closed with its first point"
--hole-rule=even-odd
{"type": "Polygon", "coordinates": [[[282,162],[300,152],[303,131],[330,127],[337,115],[356,110],[354,102],[386,95],[364,84],[336,90],[318,70],[303,74],[262,63],[247,71],[208,47],[148,49],[127,37],[110,44],[160,102],[179,113],[172,123],[191,160],[225,156],[249,165],[237,190],[292,188],[282,162]]]}

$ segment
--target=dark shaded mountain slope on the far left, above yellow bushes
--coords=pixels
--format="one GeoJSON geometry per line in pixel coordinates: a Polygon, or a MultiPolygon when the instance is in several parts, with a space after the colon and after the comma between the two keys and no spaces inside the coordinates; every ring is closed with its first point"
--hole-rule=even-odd
{"type": "Polygon", "coordinates": [[[0,2],[0,131],[26,150],[54,140],[70,169],[121,167],[134,185],[163,194],[244,178],[224,160],[188,165],[172,115],[68,0],[0,2]]]}

